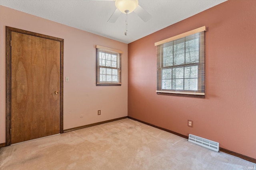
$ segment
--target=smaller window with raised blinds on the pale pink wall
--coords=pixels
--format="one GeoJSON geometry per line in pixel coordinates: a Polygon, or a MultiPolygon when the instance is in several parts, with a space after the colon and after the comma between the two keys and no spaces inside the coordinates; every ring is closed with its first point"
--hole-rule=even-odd
{"type": "Polygon", "coordinates": [[[96,86],[121,86],[121,53],[96,46],[96,86]]]}

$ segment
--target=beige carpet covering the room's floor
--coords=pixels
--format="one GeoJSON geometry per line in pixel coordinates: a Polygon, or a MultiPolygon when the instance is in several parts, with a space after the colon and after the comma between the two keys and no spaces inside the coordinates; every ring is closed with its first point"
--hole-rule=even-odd
{"type": "Polygon", "coordinates": [[[131,119],[0,149],[1,170],[240,170],[256,164],[131,119]]]}

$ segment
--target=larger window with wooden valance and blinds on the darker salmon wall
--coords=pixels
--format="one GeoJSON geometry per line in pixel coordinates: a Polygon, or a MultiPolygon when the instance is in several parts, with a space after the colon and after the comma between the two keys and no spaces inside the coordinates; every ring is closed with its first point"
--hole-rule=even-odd
{"type": "Polygon", "coordinates": [[[159,93],[204,96],[204,32],[200,27],[155,43],[159,93]]]}

